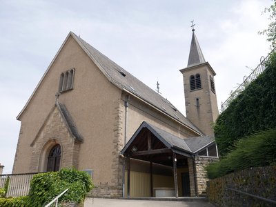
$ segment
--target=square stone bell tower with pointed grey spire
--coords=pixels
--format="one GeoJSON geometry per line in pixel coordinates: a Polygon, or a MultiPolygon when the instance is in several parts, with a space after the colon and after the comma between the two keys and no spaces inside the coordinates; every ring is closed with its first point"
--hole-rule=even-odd
{"type": "Polygon", "coordinates": [[[219,115],[214,80],[216,73],[204,59],[194,26],[188,65],[180,70],[184,79],[186,116],[204,135],[214,135],[212,124],[219,115]]]}

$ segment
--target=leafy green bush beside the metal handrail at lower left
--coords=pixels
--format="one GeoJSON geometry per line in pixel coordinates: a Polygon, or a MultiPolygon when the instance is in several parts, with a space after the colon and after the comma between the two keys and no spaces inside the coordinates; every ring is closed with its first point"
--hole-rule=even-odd
{"type": "Polygon", "coordinates": [[[73,168],[63,168],[59,172],[46,172],[34,175],[30,184],[30,206],[43,206],[57,197],[63,190],[69,190],[59,201],[81,203],[86,194],[93,188],[87,172],[73,168]]]}

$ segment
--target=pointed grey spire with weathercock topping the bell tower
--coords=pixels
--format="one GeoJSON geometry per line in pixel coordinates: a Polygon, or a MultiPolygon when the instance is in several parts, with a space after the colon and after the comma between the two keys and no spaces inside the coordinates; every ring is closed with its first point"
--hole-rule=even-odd
{"type": "Polygon", "coordinates": [[[199,46],[199,43],[197,41],[197,37],[195,36],[195,24],[194,21],[192,22],[192,28],[193,28],[193,36],[192,36],[192,42],[190,43],[190,55],[189,55],[189,59],[188,59],[188,67],[190,66],[196,66],[199,65],[201,63],[206,63],[203,53],[201,51],[201,48],[199,46]]]}

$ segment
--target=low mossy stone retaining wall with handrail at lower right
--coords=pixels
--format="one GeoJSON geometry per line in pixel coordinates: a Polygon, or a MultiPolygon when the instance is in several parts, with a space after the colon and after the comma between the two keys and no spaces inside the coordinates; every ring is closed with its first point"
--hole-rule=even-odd
{"type": "Polygon", "coordinates": [[[215,206],[273,206],[268,202],[235,193],[233,188],[245,193],[276,201],[276,166],[258,167],[208,181],[207,195],[215,206]]]}

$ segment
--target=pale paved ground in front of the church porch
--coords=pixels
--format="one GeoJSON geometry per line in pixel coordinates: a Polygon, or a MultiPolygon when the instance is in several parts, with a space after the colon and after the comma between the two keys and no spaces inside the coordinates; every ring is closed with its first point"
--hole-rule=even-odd
{"type": "Polygon", "coordinates": [[[128,199],[86,198],[84,207],[213,207],[206,201],[146,201],[128,199]]]}

